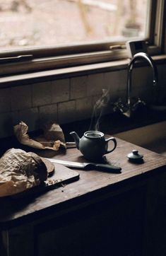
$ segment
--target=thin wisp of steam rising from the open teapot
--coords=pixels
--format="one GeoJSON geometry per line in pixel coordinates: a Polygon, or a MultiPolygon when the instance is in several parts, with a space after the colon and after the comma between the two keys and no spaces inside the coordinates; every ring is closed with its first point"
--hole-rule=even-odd
{"type": "Polygon", "coordinates": [[[99,131],[100,130],[100,119],[102,117],[103,110],[109,102],[109,90],[102,89],[102,96],[97,100],[93,107],[93,115],[91,117],[89,130],[99,131]]]}

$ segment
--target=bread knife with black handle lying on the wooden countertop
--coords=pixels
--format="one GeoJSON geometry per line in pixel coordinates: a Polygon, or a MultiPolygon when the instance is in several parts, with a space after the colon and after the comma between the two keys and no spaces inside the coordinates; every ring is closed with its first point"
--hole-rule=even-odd
{"type": "Polygon", "coordinates": [[[64,161],[54,158],[45,158],[52,163],[60,163],[69,168],[83,169],[83,170],[102,170],[108,173],[121,173],[121,168],[107,163],[78,163],[73,161],[64,161]]]}

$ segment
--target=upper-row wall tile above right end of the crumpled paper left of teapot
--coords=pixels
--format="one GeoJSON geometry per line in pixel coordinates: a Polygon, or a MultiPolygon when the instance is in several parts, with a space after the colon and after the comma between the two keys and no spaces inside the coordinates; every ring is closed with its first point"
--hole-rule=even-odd
{"type": "Polygon", "coordinates": [[[52,103],[69,100],[69,79],[52,81],[52,103]]]}

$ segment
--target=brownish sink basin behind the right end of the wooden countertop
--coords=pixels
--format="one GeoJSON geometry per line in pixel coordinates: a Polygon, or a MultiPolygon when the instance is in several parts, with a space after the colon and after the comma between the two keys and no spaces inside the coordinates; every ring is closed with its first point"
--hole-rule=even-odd
{"type": "Polygon", "coordinates": [[[131,129],[114,136],[166,156],[166,121],[131,129]]]}

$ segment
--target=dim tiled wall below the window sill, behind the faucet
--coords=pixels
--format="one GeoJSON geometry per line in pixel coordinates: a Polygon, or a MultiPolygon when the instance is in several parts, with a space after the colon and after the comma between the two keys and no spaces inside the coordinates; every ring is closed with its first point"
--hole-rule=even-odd
{"type": "MultiPolygon", "coordinates": [[[[166,65],[158,65],[160,98],[166,100],[166,65]]],[[[93,106],[102,89],[109,90],[105,112],[112,112],[110,103],[126,97],[126,70],[84,75],[0,89],[0,138],[13,135],[13,125],[20,120],[29,132],[49,121],[59,124],[91,117],[93,106]]],[[[152,77],[148,67],[133,71],[132,96],[152,98],[152,77]]]]}

